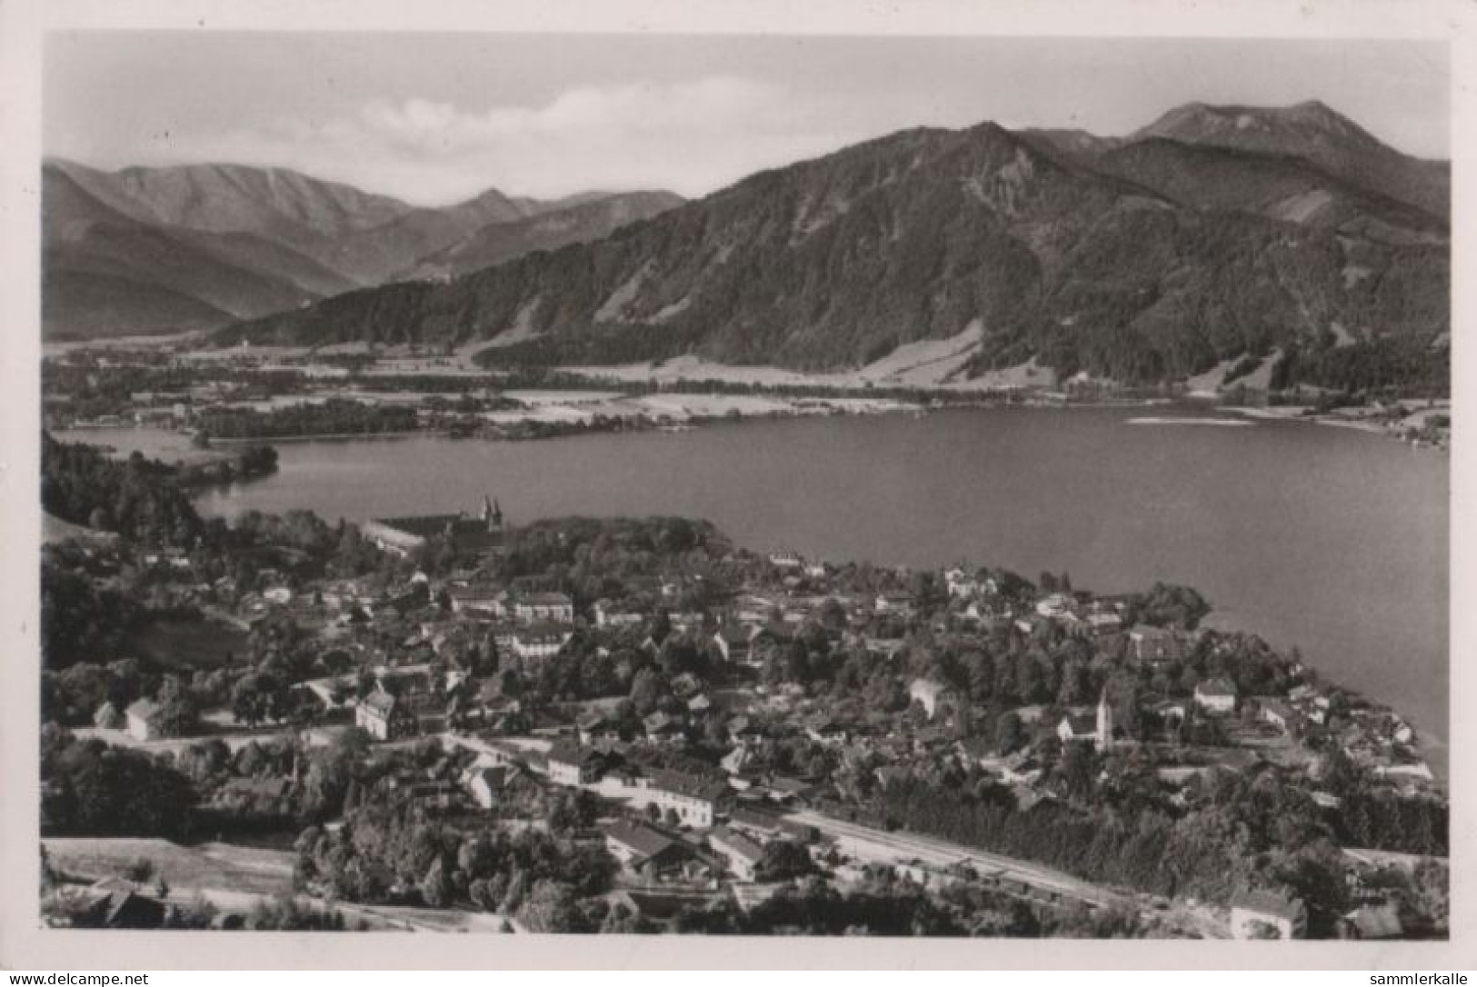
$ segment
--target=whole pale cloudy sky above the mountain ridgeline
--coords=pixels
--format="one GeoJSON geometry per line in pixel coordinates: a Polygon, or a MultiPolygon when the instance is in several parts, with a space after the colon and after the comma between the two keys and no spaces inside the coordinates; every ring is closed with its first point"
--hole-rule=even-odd
{"type": "Polygon", "coordinates": [[[1124,134],[1190,100],[1320,99],[1449,154],[1447,53],[1412,41],[61,33],[46,154],[284,165],[421,204],[702,195],[904,127],[1124,134]]]}

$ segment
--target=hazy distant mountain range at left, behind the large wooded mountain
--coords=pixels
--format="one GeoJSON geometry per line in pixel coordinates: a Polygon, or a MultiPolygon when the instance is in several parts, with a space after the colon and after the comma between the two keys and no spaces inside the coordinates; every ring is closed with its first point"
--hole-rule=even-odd
{"type": "Polygon", "coordinates": [[[461,248],[436,270],[459,272],[456,257],[594,239],[681,202],[666,192],[539,201],[489,189],[443,208],[414,207],[285,168],[230,164],[100,171],[53,160],[41,179],[47,338],[229,325],[411,276],[442,251],[461,248]],[[529,229],[532,220],[542,232],[529,229]],[[502,226],[514,229],[499,236],[502,226]]]}

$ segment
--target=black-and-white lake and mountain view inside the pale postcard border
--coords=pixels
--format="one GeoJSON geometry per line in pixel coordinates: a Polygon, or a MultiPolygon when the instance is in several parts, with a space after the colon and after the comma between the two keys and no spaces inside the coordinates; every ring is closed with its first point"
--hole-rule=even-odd
{"type": "Polygon", "coordinates": [[[1453,937],[1449,38],[433,27],[41,37],[32,929],[1453,937]]]}

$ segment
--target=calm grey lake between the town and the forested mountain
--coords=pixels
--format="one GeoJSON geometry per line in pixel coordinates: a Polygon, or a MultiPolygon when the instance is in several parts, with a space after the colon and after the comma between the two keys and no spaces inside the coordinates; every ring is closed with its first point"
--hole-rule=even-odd
{"type": "MultiPolygon", "coordinates": [[[[1449,461],[1346,428],[1136,424],[1208,409],[962,409],[545,442],[282,443],[281,471],[208,514],[473,511],[706,517],[830,559],[1068,570],[1111,592],[1195,587],[1216,625],[1300,646],[1329,677],[1447,736],[1449,461]]],[[[108,439],[124,445],[123,436],[108,439]]],[[[1431,748],[1433,767],[1445,749],[1431,748]]]]}

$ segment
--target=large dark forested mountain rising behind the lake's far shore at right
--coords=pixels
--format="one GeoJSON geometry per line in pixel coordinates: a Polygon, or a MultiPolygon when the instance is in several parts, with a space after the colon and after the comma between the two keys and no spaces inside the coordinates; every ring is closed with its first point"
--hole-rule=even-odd
{"type": "Polygon", "coordinates": [[[1320,103],[1190,105],[1127,139],[905,130],[604,239],[217,338],[487,340],[502,362],[832,371],[978,327],[966,374],[1034,361],[1124,381],[1273,349],[1421,347],[1449,331],[1447,216],[1428,164],[1320,103]]]}

